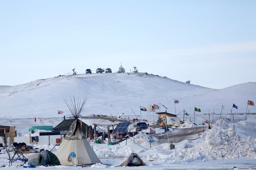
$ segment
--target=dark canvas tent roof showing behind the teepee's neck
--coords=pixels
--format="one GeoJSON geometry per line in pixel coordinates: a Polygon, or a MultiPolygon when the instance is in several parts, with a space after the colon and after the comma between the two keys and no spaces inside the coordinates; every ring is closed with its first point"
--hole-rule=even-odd
{"type": "MultiPolygon", "coordinates": [[[[60,122],[52,130],[59,130],[60,132],[63,132],[61,134],[66,134],[68,132],[70,126],[74,122],[74,120],[75,119],[65,119],[65,120],[62,120],[62,122],[60,122]]],[[[88,126],[88,125],[86,125],[84,122],[82,122],[82,132],[83,132],[83,134],[86,134],[86,126],[88,126]]]]}

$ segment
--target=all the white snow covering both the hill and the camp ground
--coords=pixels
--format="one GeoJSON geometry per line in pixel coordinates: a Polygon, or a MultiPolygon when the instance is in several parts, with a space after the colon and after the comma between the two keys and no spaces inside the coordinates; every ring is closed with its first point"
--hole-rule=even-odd
{"type": "MultiPolygon", "coordinates": [[[[70,112],[63,101],[70,96],[88,98],[81,115],[103,114],[123,116],[125,119],[147,119],[147,123],[155,125],[156,114],[140,112],[140,106],[162,103],[168,108],[168,113],[175,114],[185,122],[178,129],[164,132],[157,129],[155,135],[149,136],[149,129],[121,142],[119,145],[95,144],[93,150],[102,164],[86,167],[86,169],[256,169],[256,113],[255,106],[248,106],[247,101],[256,102],[256,82],[249,82],[224,89],[210,89],[197,85],[178,82],[157,75],[139,74],[90,74],[63,76],[41,79],[17,86],[0,86],[0,125],[16,126],[20,136],[29,136],[29,128],[40,125],[58,125],[65,115],[70,112]],[[174,99],[180,103],[174,105],[174,99]],[[238,109],[232,108],[233,103],[238,109]],[[233,111],[233,123],[220,123],[221,106],[222,118],[230,118],[233,111]],[[194,107],[201,112],[195,112],[194,107]],[[134,113],[132,112],[133,109],[134,113]],[[64,113],[58,115],[58,110],[64,113]],[[247,115],[246,111],[252,114],[247,115]],[[204,132],[198,129],[204,120],[213,121],[212,129],[204,126],[204,132]],[[141,117],[140,117],[141,115],[141,117]],[[42,122],[34,122],[34,118],[42,122]],[[57,118],[55,118],[57,117],[57,118]],[[7,119],[12,122],[7,122],[7,119]],[[185,130],[191,130],[190,135],[184,135],[185,130]],[[182,136],[182,137],[180,137],[182,136]],[[151,139],[152,137],[152,139],[151,139]],[[174,139],[175,138],[175,139],[174,139]],[[169,143],[168,143],[169,139],[169,143]],[[178,140],[177,140],[178,139],[178,140]],[[169,144],[174,141],[175,149],[169,150],[169,144]],[[127,143],[126,143],[127,142],[127,143]],[[151,147],[150,147],[151,146],[151,147]],[[152,161],[144,160],[145,167],[117,167],[132,153],[137,153],[142,160],[152,157],[152,161]]],[[[161,105],[160,105],[161,106],[161,105]]],[[[158,112],[164,112],[161,106],[158,112]]],[[[113,124],[109,120],[81,118],[88,125],[113,124]]],[[[132,129],[132,128],[131,128],[132,129]]],[[[36,132],[34,135],[38,135],[36,132]]],[[[39,149],[51,150],[53,145],[34,145],[39,149]]],[[[53,149],[56,152],[58,146],[53,149]]],[[[24,169],[21,161],[8,166],[7,154],[0,154],[0,166],[4,169],[24,169]]],[[[27,154],[29,156],[30,154],[27,154]]],[[[70,169],[68,166],[37,167],[38,169],[70,169]]],[[[84,167],[72,167],[83,169],[84,167]]]]}

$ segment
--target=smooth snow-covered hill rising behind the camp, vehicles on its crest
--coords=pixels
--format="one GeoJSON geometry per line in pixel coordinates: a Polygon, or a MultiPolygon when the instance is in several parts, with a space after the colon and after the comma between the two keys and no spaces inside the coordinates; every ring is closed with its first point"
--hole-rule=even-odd
{"type": "MultiPolygon", "coordinates": [[[[256,82],[231,86],[225,89],[210,89],[186,84],[173,79],[147,73],[81,74],[40,79],[17,86],[0,86],[0,118],[49,118],[70,115],[63,99],[88,98],[81,115],[133,115],[140,114],[140,106],[162,103],[168,113],[183,109],[201,113],[230,113],[233,103],[238,106],[234,112],[246,112],[247,100],[256,101],[256,82]],[[63,115],[58,115],[58,110],[63,115]]],[[[161,105],[160,105],[161,106],[161,105]]],[[[255,106],[249,106],[256,112],[255,106]]],[[[159,111],[159,110],[158,110],[159,111]]],[[[163,106],[160,108],[163,112],[163,106]]],[[[147,115],[142,112],[142,116],[147,115]]]]}

